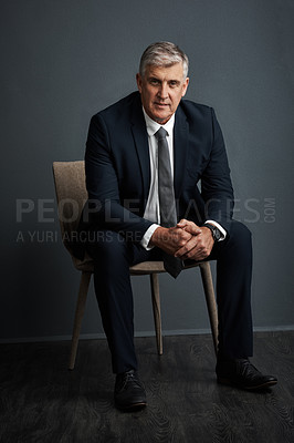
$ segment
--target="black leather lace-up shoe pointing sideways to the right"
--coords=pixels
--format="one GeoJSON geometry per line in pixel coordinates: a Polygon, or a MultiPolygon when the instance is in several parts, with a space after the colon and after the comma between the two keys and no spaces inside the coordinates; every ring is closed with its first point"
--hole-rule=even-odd
{"type": "Polygon", "coordinates": [[[259,390],[273,387],[277,383],[275,377],[263,375],[249,359],[218,361],[218,382],[231,384],[245,390],[259,390]]]}

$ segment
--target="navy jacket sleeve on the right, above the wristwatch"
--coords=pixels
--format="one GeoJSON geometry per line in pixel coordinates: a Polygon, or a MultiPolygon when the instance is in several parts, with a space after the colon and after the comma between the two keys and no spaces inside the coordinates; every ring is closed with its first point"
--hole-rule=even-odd
{"type": "Polygon", "coordinates": [[[212,146],[201,176],[201,195],[207,219],[219,223],[230,233],[233,212],[233,188],[224,141],[214,111],[211,109],[212,146]]]}

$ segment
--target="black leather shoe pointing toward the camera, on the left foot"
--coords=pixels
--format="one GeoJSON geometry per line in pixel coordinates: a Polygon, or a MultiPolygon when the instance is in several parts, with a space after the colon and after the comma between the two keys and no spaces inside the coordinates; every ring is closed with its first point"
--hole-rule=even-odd
{"type": "Polygon", "coordinates": [[[116,375],[114,401],[116,408],[126,411],[146,406],[144,385],[133,369],[116,375]]]}

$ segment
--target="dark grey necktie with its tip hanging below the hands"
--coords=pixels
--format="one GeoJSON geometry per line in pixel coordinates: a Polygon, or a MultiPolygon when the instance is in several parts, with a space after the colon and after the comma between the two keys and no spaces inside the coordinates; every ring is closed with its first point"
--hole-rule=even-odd
{"type": "MultiPolygon", "coordinates": [[[[169,228],[177,225],[177,210],[167,135],[168,133],[162,126],[155,134],[158,142],[158,195],[160,225],[169,228]]],[[[164,253],[164,265],[165,269],[175,278],[182,269],[182,261],[167,253],[164,253]]]]}

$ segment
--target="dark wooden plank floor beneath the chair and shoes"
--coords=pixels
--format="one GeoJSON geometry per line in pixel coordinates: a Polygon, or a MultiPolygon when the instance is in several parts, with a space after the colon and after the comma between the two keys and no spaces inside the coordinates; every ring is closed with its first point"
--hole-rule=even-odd
{"type": "Polygon", "coordinates": [[[105,340],[2,344],[1,443],[285,443],[294,442],[294,331],[255,334],[252,360],[279,377],[266,392],[218,385],[210,336],[136,339],[148,408],[113,405],[114,375],[105,340]]]}

